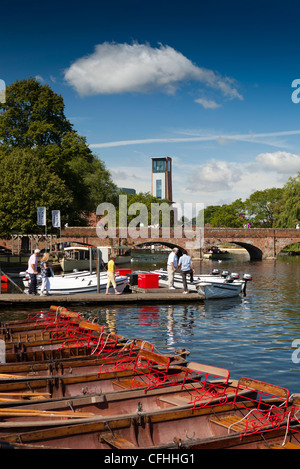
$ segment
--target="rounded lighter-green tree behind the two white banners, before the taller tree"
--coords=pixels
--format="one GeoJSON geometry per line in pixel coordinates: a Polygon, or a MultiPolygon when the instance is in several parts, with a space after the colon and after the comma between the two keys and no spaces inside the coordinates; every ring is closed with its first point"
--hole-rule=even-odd
{"type": "Polygon", "coordinates": [[[0,236],[12,230],[34,233],[37,226],[37,207],[46,207],[48,224],[51,210],[61,210],[66,219],[72,205],[72,194],[64,182],[52,173],[44,161],[32,150],[14,149],[0,152],[0,236]]]}

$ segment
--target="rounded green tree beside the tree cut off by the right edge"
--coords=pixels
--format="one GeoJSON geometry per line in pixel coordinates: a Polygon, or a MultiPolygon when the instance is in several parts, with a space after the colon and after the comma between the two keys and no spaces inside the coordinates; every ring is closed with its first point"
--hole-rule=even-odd
{"type": "Polygon", "coordinates": [[[245,209],[254,226],[272,227],[275,222],[274,211],[282,199],[282,189],[275,188],[255,191],[245,200],[245,209]]]}

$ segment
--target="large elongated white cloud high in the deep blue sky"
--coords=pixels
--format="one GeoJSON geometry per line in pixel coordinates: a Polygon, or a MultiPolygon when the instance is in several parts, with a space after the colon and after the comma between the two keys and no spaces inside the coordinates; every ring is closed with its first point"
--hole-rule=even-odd
{"type": "Polygon", "coordinates": [[[65,71],[65,79],[81,96],[155,89],[174,93],[180,83],[193,80],[220,91],[226,98],[243,99],[232,78],[198,67],[163,45],[98,44],[94,53],[79,58],[65,71]]]}

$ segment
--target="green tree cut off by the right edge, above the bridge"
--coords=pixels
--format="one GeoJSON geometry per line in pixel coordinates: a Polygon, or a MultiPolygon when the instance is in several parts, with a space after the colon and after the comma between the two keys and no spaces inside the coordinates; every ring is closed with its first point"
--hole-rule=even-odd
{"type": "Polygon", "coordinates": [[[282,198],[275,207],[275,226],[295,228],[300,222],[300,172],[283,186],[282,198]]]}

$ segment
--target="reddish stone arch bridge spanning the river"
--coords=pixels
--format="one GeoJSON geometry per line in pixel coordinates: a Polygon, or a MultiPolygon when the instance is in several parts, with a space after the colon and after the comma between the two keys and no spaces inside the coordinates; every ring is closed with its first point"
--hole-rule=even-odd
{"type": "MultiPolygon", "coordinates": [[[[200,232],[199,229],[198,231],[200,232]]],[[[96,227],[68,227],[62,230],[61,240],[62,242],[81,242],[94,246],[126,245],[137,247],[145,244],[163,244],[187,249],[194,258],[201,258],[203,252],[213,245],[232,243],[245,248],[249,252],[251,260],[274,259],[284,247],[300,242],[300,230],[297,229],[204,228],[201,233],[200,236],[196,227],[183,228],[181,236],[178,236],[176,230],[170,228],[167,236],[164,235],[162,229],[157,230],[156,236],[153,236],[153,231],[148,228],[146,232],[141,230],[140,235],[135,238],[130,236],[125,238],[120,236],[117,229],[114,237],[99,238],[96,227]],[[190,248],[193,239],[193,247],[190,248]]]]}

